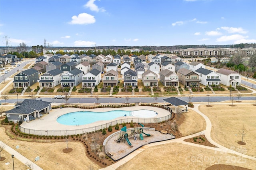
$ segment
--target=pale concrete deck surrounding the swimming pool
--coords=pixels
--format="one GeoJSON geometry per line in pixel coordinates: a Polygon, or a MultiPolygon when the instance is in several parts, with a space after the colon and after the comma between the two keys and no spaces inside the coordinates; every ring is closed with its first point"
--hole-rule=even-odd
{"type": "MultiPolygon", "coordinates": [[[[171,108],[174,109],[174,106],[172,107],[171,108]]],[[[118,117],[116,119],[112,119],[108,121],[97,121],[94,123],[79,125],[79,126],[62,125],[57,122],[57,118],[66,113],[72,113],[77,111],[106,112],[106,111],[113,111],[113,110],[136,111],[136,110],[144,110],[144,109],[155,111],[156,113],[158,113],[158,115],[156,115],[156,117],[154,118],[165,117],[167,115],[170,115],[170,112],[165,109],[161,109],[158,107],[151,107],[151,106],[133,106],[133,107],[120,107],[120,108],[106,107],[106,108],[96,108],[96,109],[80,109],[80,108],[66,107],[62,109],[52,109],[49,114],[44,114],[43,117],[41,117],[41,119],[36,119],[28,123],[24,122],[20,126],[22,128],[33,129],[33,130],[76,130],[81,128],[95,127],[95,126],[109,123],[114,120],[124,119],[124,118],[134,118],[134,122],[136,122],[136,119],[141,120],[144,118],[126,116],[126,117],[118,117]]],[[[148,119],[148,118],[145,118],[145,119],[148,119]]]]}

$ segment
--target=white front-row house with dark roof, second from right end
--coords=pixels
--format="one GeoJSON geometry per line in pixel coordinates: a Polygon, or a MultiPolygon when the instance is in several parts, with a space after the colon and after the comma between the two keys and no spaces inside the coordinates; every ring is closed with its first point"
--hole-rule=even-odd
{"type": "Polygon", "coordinates": [[[199,80],[202,85],[220,85],[220,75],[218,75],[215,71],[199,68],[194,72],[199,75],[199,80]]]}

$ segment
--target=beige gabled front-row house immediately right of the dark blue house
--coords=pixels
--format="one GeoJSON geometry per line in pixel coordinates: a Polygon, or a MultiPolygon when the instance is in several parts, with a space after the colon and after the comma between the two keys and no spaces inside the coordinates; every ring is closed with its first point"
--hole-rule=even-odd
{"type": "Polygon", "coordinates": [[[141,75],[141,80],[144,86],[158,86],[158,75],[153,71],[146,71],[141,75]]]}

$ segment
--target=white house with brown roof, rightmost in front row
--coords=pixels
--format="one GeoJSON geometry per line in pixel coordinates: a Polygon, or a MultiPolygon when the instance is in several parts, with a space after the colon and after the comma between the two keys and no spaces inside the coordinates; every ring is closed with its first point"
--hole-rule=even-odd
{"type": "Polygon", "coordinates": [[[236,86],[241,84],[241,77],[239,73],[229,69],[219,69],[216,71],[220,75],[220,83],[226,86],[236,86]]]}

